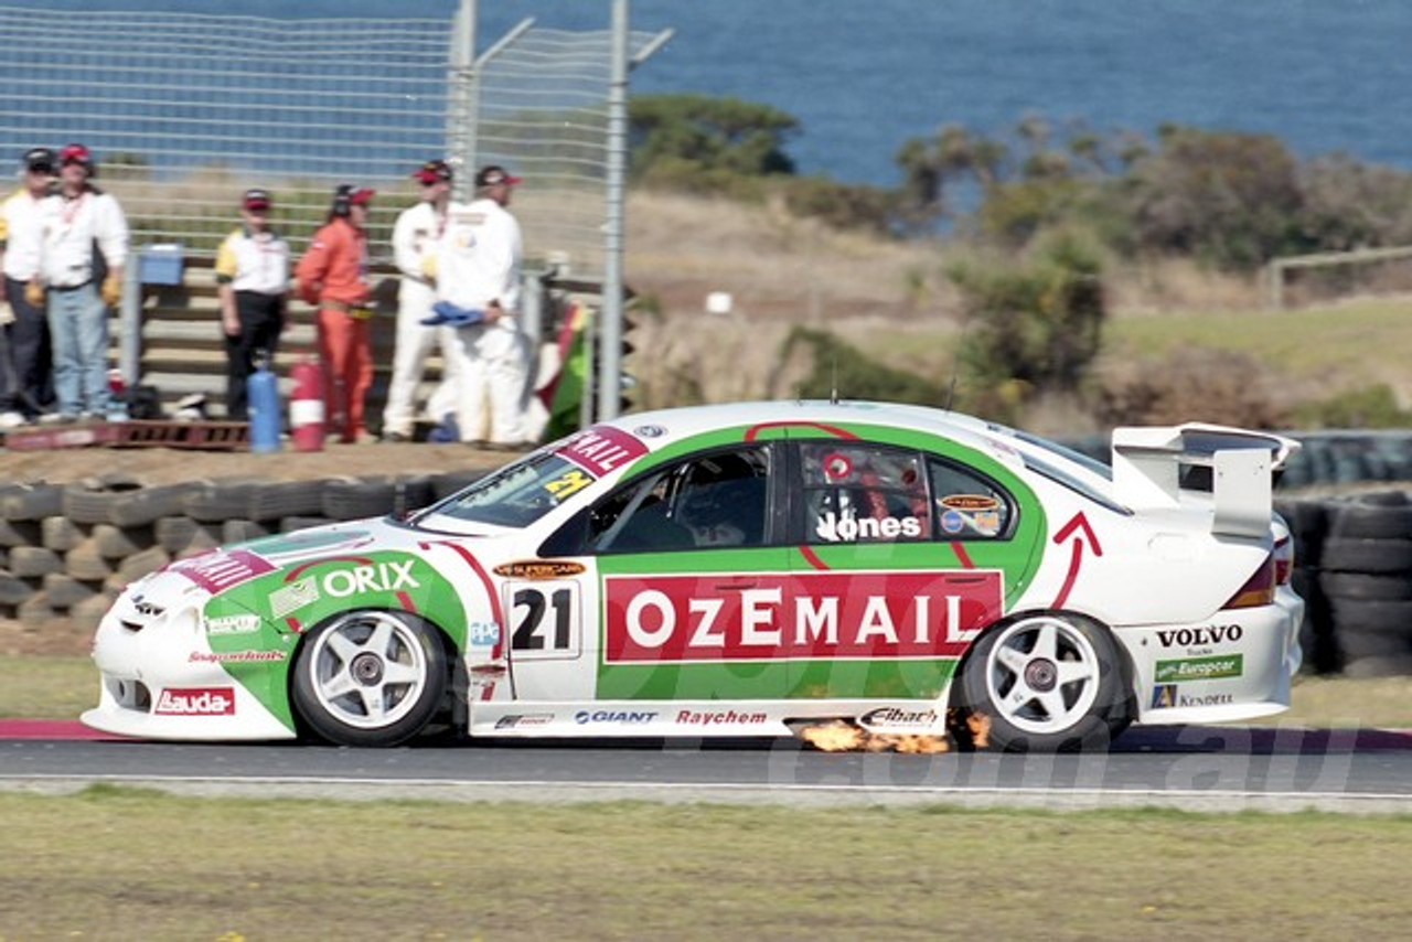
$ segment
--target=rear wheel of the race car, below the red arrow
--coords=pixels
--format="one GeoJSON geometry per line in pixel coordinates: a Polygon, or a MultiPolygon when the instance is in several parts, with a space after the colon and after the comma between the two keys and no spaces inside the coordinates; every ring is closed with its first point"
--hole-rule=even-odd
{"type": "Polygon", "coordinates": [[[1104,750],[1132,722],[1123,658],[1106,628],[1032,614],[991,628],[962,668],[960,705],[1011,753],[1104,750]]]}

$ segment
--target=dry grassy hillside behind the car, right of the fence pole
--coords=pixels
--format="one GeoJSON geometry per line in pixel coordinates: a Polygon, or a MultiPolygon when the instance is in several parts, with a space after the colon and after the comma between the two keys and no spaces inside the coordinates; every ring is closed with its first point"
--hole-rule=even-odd
{"type": "MultiPolygon", "coordinates": [[[[774,206],[644,192],[634,192],[627,220],[627,280],[650,309],[634,315],[638,401],[792,395],[799,364],[779,364],[778,353],[795,325],[832,330],[887,366],[950,378],[963,329],[960,298],[943,274],[955,246],[840,233],[774,206]],[[731,295],[729,315],[706,312],[716,291],[731,295]]],[[[1389,285],[1378,297],[1267,311],[1254,275],[1183,261],[1111,263],[1094,378],[1117,387],[1115,397],[1149,391],[1134,393],[1134,383],[1180,387],[1171,408],[1204,411],[1209,421],[1269,414],[1281,424],[1299,403],[1374,384],[1406,408],[1412,328],[1405,295],[1392,294],[1405,284],[1389,285]],[[1272,407],[1251,408],[1252,397],[1272,407]]],[[[966,408],[960,378],[956,404],[966,408]]],[[[1049,434],[1101,427],[1067,405],[1031,411],[1025,424],[1049,434]]]]}

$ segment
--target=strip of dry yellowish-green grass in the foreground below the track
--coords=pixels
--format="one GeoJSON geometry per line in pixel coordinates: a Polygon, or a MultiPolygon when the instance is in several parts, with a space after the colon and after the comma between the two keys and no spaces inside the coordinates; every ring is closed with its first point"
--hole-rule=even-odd
{"type": "Polygon", "coordinates": [[[1412,819],[0,795],[0,939],[1401,938],[1412,819]],[[1313,850],[1317,849],[1317,850],[1313,850]]]}

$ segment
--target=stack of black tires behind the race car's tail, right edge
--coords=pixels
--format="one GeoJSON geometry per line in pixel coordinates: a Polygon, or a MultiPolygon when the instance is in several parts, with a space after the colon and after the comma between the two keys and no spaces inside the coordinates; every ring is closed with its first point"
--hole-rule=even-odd
{"type": "Polygon", "coordinates": [[[1324,513],[1315,595],[1327,600],[1343,674],[1412,674],[1412,500],[1357,494],[1324,513]]]}

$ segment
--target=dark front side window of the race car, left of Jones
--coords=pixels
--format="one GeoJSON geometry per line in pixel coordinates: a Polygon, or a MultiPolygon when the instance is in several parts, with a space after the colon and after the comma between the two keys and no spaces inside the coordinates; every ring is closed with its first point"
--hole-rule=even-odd
{"type": "Polygon", "coordinates": [[[599,504],[592,552],[655,552],[765,544],[764,448],[705,455],[650,475],[599,504]]]}

